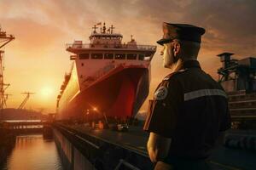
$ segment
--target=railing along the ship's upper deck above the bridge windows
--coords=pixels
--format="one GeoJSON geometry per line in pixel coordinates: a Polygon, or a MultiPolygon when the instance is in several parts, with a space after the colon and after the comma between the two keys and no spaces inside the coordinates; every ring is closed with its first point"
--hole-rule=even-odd
{"type": "Polygon", "coordinates": [[[86,49],[86,48],[125,48],[125,49],[138,49],[146,51],[155,51],[154,45],[137,45],[137,44],[118,44],[118,43],[70,43],[67,44],[68,49],[86,49]]]}

